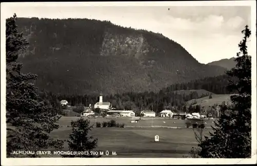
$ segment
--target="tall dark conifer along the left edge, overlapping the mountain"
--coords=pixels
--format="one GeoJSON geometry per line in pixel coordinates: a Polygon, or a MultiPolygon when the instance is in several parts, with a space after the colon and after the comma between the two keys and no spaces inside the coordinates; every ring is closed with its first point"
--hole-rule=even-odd
{"type": "Polygon", "coordinates": [[[52,107],[39,97],[37,88],[31,82],[37,76],[21,73],[22,64],[16,62],[28,45],[22,33],[17,31],[16,19],[14,14],[6,20],[7,157],[17,157],[12,151],[59,150],[63,147],[63,141],[49,135],[59,128],[56,122],[61,116],[54,114],[52,107]]]}

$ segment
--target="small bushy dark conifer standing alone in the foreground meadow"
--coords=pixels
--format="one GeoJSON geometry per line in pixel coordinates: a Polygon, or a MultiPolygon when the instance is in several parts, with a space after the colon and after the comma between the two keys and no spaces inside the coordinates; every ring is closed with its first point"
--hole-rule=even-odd
{"type": "Polygon", "coordinates": [[[90,151],[97,147],[98,139],[93,139],[88,136],[93,126],[90,126],[90,121],[84,118],[79,118],[77,121],[71,121],[72,133],[69,134],[68,146],[69,151],[85,152],[88,154],[63,155],[63,157],[100,157],[98,154],[91,154],[90,151]]]}

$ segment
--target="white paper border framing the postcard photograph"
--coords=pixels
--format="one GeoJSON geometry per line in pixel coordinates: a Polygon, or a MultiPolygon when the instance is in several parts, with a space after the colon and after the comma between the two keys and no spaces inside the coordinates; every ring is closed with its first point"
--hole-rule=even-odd
{"type": "MultiPolygon", "coordinates": [[[[190,159],[190,158],[6,158],[6,63],[5,11],[13,6],[251,6],[251,42],[256,46],[255,1],[188,1],[188,2],[48,2],[1,3],[1,165],[167,165],[167,164],[250,164],[256,163],[256,54],[252,55],[252,158],[251,159],[190,159]]],[[[256,47],[253,47],[256,53],[256,47]]]]}

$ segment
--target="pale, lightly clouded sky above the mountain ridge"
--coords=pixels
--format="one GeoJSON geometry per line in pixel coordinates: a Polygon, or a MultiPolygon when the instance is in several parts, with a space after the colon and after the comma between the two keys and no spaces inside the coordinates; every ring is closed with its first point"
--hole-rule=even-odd
{"type": "Polygon", "coordinates": [[[203,64],[235,57],[243,37],[241,31],[246,25],[251,26],[249,6],[14,5],[5,11],[5,15],[13,13],[17,17],[109,20],[123,27],[158,32],[179,43],[203,64]]]}

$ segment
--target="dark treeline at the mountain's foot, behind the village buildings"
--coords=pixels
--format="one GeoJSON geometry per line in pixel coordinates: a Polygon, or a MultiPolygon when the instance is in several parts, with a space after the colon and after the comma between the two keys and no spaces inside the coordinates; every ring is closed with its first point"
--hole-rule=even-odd
{"type": "MultiPolygon", "coordinates": [[[[103,101],[109,101],[114,108],[122,110],[140,111],[149,109],[158,113],[163,109],[172,109],[175,112],[187,112],[188,107],[186,107],[185,103],[191,99],[201,98],[211,94],[229,94],[226,89],[227,84],[228,76],[221,75],[190,81],[185,84],[174,84],[163,88],[158,93],[129,92],[103,95],[103,101]]],[[[94,106],[99,101],[99,94],[56,95],[51,92],[49,94],[53,96],[50,97],[51,100],[54,100],[53,102],[56,102],[58,99],[65,99],[71,106],[79,104],[84,106],[91,104],[94,106]]]]}

